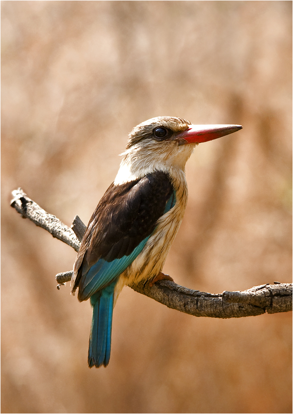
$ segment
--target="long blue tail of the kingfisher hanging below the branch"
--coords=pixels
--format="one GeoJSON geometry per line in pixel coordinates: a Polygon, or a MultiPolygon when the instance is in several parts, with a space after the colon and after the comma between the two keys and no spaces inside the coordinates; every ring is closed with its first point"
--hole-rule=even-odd
{"type": "Polygon", "coordinates": [[[88,347],[88,366],[107,366],[111,353],[114,289],[117,280],[90,297],[93,309],[88,347]]]}

